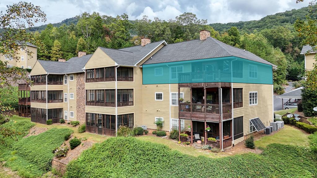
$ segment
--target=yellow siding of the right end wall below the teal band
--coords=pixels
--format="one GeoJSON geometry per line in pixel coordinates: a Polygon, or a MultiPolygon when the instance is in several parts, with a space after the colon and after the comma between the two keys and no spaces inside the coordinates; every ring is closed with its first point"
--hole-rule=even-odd
{"type": "MultiPolygon", "coordinates": [[[[233,88],[243,88],[243,107],[233,109],[233,117],[243,116],[244,135],[250,133],[250,119],[258,117],[265,126],[270,125],[273,120],[272,85],[233,83],[233,88]],[[249,105],[249,92],[257,92],[257,105],[249,105]]],[[[236,140],[235,143],[239,140],[241,139],[236,140]]]]}

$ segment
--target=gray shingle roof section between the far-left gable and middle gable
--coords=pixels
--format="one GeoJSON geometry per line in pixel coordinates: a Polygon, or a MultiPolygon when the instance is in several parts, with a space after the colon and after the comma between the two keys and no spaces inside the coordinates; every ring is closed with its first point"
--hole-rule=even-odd
{"type": "Polygon", "coordinates": [[[85,66],[92,54],[85,56],[73,57],[66,62],[58,62],[52,60],[38,60],[47,73],[79,73],[83,72],[82,68],[85,66]]]}

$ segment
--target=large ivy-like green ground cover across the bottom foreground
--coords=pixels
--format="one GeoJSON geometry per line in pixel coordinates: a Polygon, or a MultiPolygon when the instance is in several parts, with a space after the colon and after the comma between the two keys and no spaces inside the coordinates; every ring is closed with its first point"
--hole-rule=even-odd
{"type": "Polygon", "coordinates": [[[212,159],[185,155],[133,137],[114,137],[70,162],[65,177],[314,177],[316,162],[317,155],[303,147],[276,143],[260,155],[212,159]]]}

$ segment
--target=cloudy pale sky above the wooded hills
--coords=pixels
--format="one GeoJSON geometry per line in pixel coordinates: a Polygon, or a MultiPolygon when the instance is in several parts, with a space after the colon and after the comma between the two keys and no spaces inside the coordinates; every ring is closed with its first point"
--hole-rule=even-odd
{"type": "MultiPolygon", "coordinates": [[[[1,0],[0,10],[6,5],[20,0],[1,0]]],[[[99,12],[101,15],[117,16],[128,14],[129,19],[140,19],[146,15],[150,19],[159,17],[162,20],[174,19],[184,12],[192,12],[208,23],[227,23],[259,20],[264,16],[300,9],[308,6],[310,0],[296,4],[296,0],[31,0],[39,5],[47,15],[47,21],[36,24],[61,22],[62,20],[83,12],[99,12]]]]}

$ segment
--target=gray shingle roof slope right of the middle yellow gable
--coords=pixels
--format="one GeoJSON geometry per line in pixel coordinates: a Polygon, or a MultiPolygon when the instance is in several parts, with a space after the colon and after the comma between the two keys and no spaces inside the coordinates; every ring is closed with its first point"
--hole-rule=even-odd
{"type": "Polygon", "coordinates": [[[139,60],[144,58],[153,49],[155,49],[160,43],[164,42],[157,41],[149,43],[145,46],[133,46],[121,49],[111,49],[100,47],[111,59],[113,59],[117,64],[121,65],[135,65],[139,60]]]}

